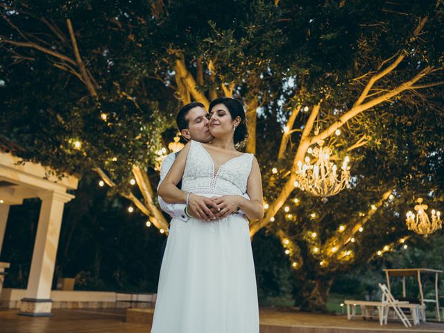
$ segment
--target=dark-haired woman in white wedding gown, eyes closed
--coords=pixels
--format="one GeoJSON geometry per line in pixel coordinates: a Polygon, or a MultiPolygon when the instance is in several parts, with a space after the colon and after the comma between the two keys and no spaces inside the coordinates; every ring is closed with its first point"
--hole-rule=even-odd
{"type": "Polygon", "coordinates": [[[264,215],[259,164],[235,148],[248,137],[239,101],[212,101],[209,126],[214,141],[189,142],[159,187],[168,203],[200,204],[199,216],[171,221],[151,333],[259,333],[248,220],[233,214],[264,215]]]}

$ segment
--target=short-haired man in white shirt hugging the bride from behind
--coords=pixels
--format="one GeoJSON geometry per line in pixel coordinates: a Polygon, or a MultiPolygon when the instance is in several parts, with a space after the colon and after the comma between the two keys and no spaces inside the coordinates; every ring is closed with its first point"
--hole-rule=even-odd
{"type": "MultiPolygon", "coordinates": [[[[185,106],[183,106],[176,117],[176,123],[182,137],[187,141],[194,140],[202,143],[207,143],[212,141],[214,137],[210,133],[210,128],[208,126],[208,113],[205,110],[205,107],[202,103],[192,102],[185,106]]],[[[160,183],[164,180],[165,176],[173,162],[176,160],[176,156],[178,153],[171,153],[164,158],[162,162],[162,166],[160,167],[160,183]]],[[[178,185],[180,187],[180,184],[178,185]]],[[[157,187],[158,189],[159,187],[157,187]]],[[[246,198],[248,194],[244,194],[246,198]]],[[[210,198],[205,198],[202,196],[190,196],[189,197],[189,205],[185,203],[166,203],[160,196],[157,197],[159,199],[160,208],[169,214],[172,218],[181,219],[182,221],[187,222],[190,217],[198,216],[199,214],[196,212],[197,208],[202,209],[202,207],[207,207],[205,213],[207,214],[208,219],[215,219],[215,214],[218,212],[219,208],[216,203],[210,198]],[[187,210],[185,210],[187,208],[187,210]],[[187,214],[188,212],[188,214],[187,214]]],[[[244,216],[244,212],[239,211],[235,214],[240,214],[244,216]]],[[[168,238],[167,238],[168,239],[168,238]]],[[[164,244],[162,245],[162,257],[167,246],[167,239],[165,239],[164,244]]]]}

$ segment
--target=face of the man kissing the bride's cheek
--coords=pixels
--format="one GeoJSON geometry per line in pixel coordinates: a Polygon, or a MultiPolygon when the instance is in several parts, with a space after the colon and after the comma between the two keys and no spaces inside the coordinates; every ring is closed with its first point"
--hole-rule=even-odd
{"type": "Polygon", "coordinates": [[[188,121],[188,128],[182,130],[182,135],[188,140],[210,142],[213,137],[208,128],[207,116],[207,111],[200,106],[189,110],[187,116],[185,116],[188,121]]]}

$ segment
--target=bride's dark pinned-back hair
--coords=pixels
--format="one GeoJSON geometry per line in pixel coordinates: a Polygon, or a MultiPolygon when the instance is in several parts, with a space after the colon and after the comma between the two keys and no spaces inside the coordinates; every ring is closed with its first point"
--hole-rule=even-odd
{"type": "Polygon", "coordinates": [[[208,112],[211,112],[212,108],[214,108],[214,105],[217,104],[223,104],[227,107],[228,111],[230,111],[231,119],[233,119],[233,121],[234,119],[236,119],[237,116],[241,118],[241,122],[237,126],[236,130],[234,130],[234,145],[237,148],[244,147],[248,139],[247,119],[245,116],[244,106],[237,99],[220,97],[219,99],[214,99],[213,101],[211,101],[208,112]]]}

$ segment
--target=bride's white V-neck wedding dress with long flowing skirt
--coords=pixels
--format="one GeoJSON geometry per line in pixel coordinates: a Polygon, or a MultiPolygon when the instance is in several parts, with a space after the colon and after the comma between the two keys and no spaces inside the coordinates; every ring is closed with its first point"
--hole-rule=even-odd
{"type": "MultiPolygon", "coordinates": [[[[214,170],[192,141],[182,189],[201,196],[242,195],[253,162],[244,154],[214,170]]],[[[259,333],[248,220],[173,219],[160,268],[151,333],[259,333]]]]}

